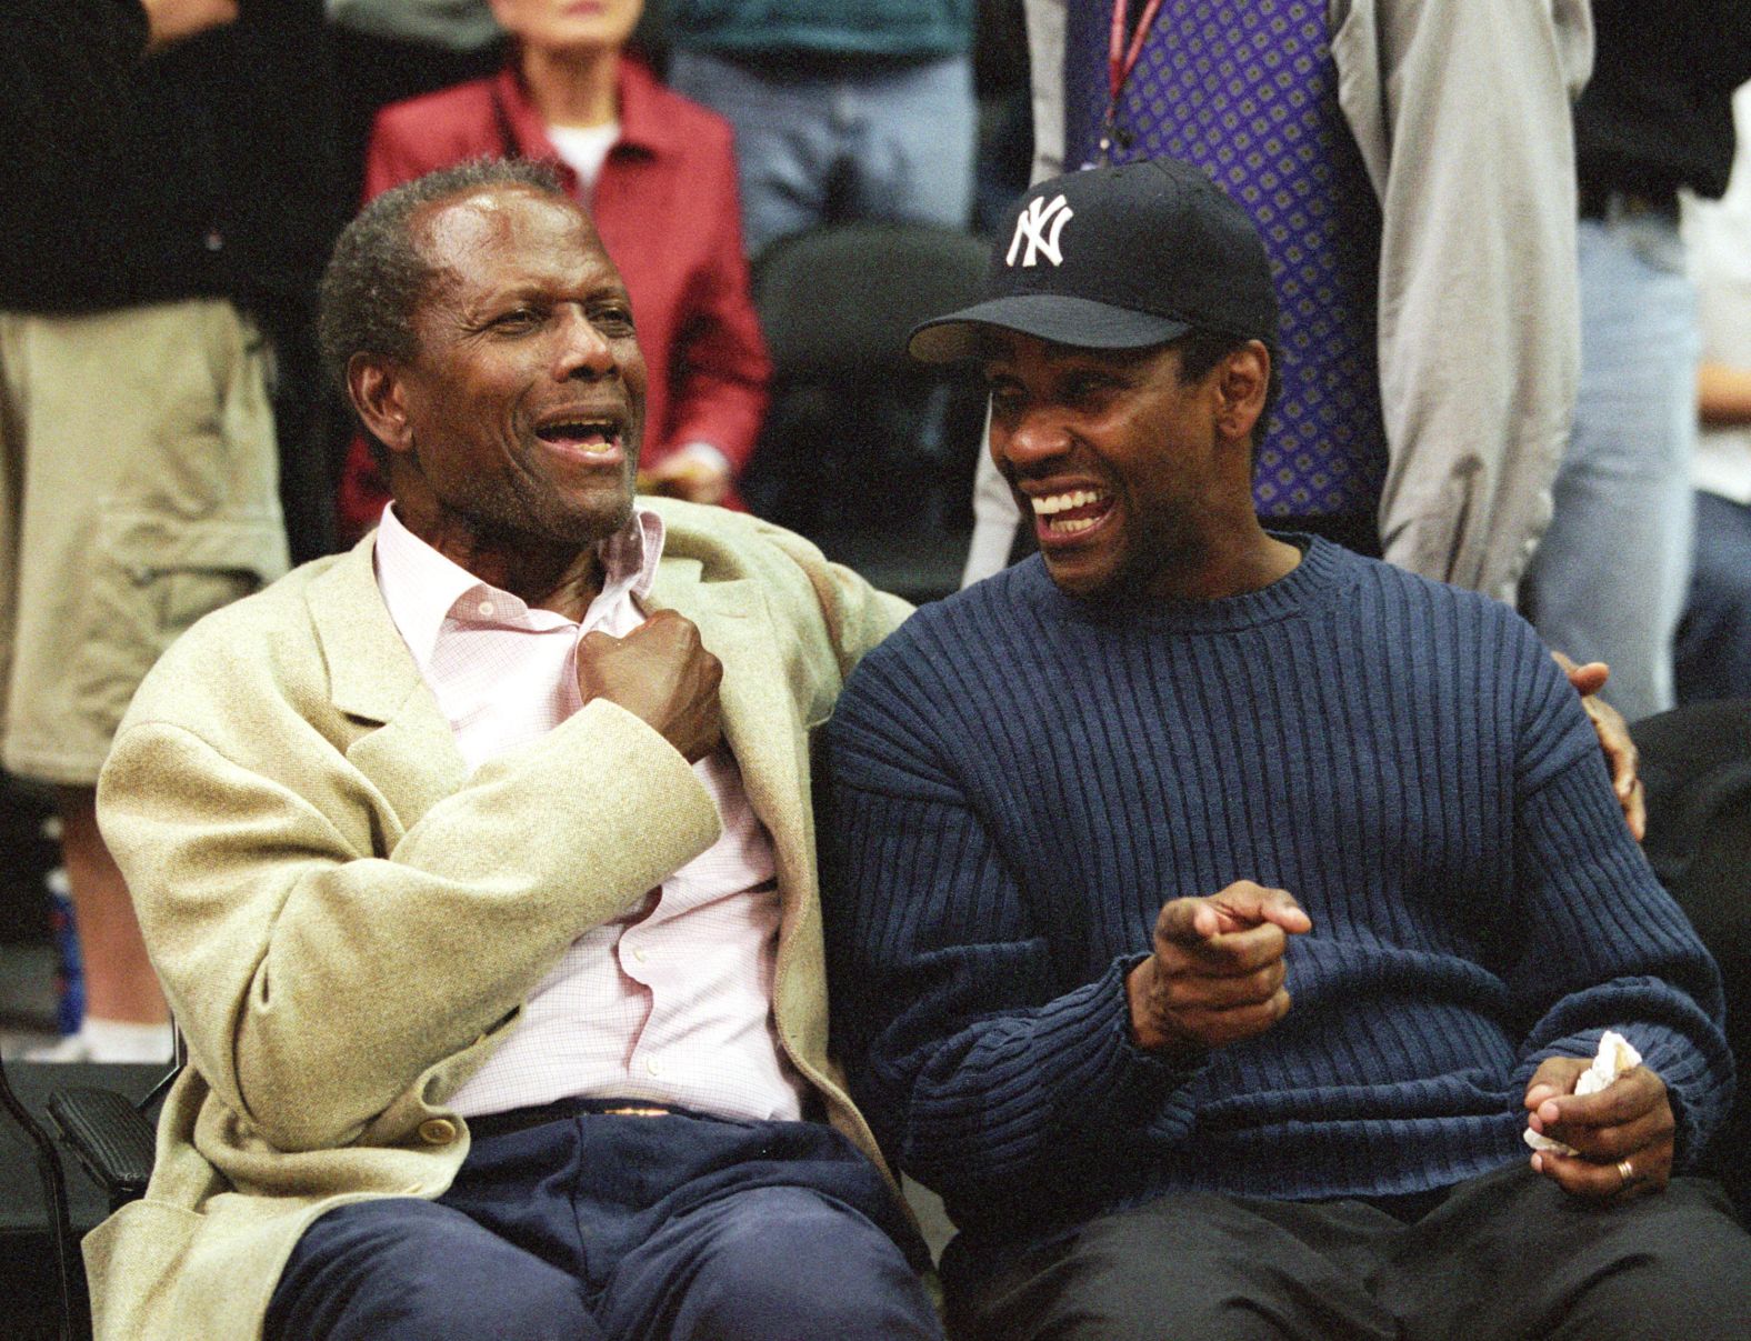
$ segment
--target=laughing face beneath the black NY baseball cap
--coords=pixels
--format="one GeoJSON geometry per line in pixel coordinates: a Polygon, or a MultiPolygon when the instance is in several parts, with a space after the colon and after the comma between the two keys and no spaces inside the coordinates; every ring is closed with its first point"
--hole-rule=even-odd
{"type": "Polygon", "coordinates": [[[1252,362],[1227,357],[1182,383],[1171,345],[1087,350],[989,333],[991,459],[1061,590],[1201,592],[1238,544],[1262,537],[1250,494],[1262,380],[1252,380],[1269,362],[1252,362]]]}

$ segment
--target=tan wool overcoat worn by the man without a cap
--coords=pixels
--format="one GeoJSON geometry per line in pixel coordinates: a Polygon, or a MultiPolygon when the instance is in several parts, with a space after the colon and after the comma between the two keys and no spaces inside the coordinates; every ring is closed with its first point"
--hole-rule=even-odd
{"type": "MultiPolygon", "coordinates": [[[[809,732],[907,606],[753,518],[653,506],[648,606],[723,660],[725,735],[776,847],[779,1038],[879,1161],[826,1057],[809,732]]],[[[608,702],[469,776],[373,539],[201,620],[103,770],[103,833],[193,1064],[145,1199],[86,1238],[100,1341],[259,1336],[310,1220],[440,1196],[469,1143],[445,1099],[578,935],[718,835],[686,762],[608,702]]]]}

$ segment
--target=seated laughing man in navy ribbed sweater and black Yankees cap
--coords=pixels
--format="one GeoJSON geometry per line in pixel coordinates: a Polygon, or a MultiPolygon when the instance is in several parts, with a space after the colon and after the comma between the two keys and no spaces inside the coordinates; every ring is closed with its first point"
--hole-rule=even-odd
{"type": "Polygon", "coordinates": [[[1714,966],[1513,611],[1259,527],[1275,333],[1247,217],[1157,159],[1037,186],[912,336],[984,361],[1040,541],[828,734],[835,1043],[963,1231],[951,1320],[1747,1336],[1751,1236],[1681,1176],[1714,966]],[[1641,1064],[1579,1092],[1607,1029],[1641,1064]]]}

